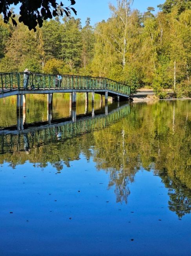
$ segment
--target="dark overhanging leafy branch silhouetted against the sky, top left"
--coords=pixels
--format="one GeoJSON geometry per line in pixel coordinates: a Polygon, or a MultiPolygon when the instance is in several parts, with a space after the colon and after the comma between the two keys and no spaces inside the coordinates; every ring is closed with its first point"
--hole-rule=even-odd
{"type": "MultiPolygon", "coordinates": [[[[15,15],[11,11],[11,5],[20,4],[20,17],[19,22],[23,22],[29,30],[36,31],[36,26],[42,27],[43,20],[52,19],[56,16],[69,16],[71,11],[76,14],[76,10],[71,7],[75,4],[75,0],[67,0],[68,4],[65,5],[56,0],[1,0],[0,13],[3,14],[4,22],[7,23],[9,19],[12,20],[13,25],[16,26],[17,22],[14,19],[15,15]]],[[[67,2],[65,0],[65,2],[67,2]]]]}

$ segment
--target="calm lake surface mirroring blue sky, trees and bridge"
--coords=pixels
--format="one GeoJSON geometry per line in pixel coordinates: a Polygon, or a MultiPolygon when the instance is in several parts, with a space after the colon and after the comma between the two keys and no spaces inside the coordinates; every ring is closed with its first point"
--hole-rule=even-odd
{"type": "Polygon", "coordinates": [[[191,255],[191,100],[46,99],[0,100],[0,255],[191,255]]]}

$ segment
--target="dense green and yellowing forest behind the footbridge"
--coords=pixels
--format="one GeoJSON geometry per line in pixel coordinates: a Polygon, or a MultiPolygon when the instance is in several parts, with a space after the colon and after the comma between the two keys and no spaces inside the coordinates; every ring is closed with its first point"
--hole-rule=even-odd
{"type": "Polygon", "coordinates": [[[164,89],[191,96],[191,0],[166,0],[156,15],[132,2],[117,0],[107,21],[91,26],[87,18],[83,28],[80,19],[56,17],[33,32],[0,17],[0,71],[104,76],[161,98],[164,89]]]}

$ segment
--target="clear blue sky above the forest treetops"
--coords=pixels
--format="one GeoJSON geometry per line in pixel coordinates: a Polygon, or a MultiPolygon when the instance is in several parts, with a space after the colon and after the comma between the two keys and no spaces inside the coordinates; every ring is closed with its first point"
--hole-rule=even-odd
{"type": "MultiPolygon", "coordinates": [[[[60,2],[60,0],[57,2],[60,2]]],[[[67,4],[67,0],[62,0],[62,2],[63,4],[67,4]]],[[[87,17],[91,19],[91,25],[102,20],[107,20],[110,16],[109,2],[114,5],[116,4],[116,0],[76,0],[74,7],[77,11],[77,18],[82,20],[82,26],[84,26],[87,17]]],[[[163,4],[164,2],[165,0],[134,0],[132,8],[144,12],[148,6],[152,6],[155,7],[157,12],[157,5],[163,4]]],[[[15,13],[19,13],[18,6],[15,7],[15,13]]]]}

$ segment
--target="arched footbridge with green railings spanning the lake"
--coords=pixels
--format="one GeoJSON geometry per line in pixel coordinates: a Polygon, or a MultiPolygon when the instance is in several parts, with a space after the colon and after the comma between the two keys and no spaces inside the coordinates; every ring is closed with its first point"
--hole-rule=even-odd
{"type": "Polygon", "coordinates": [[[0,98],[12,95],[73,93],[72,101],[76,101],[76,93],[98,93],[116,100],[129,99],[130,87],[124,83],[108,78],[60,75],[60,80],[53,74],[30,73],[27,88],[24,86],[23,72],[0,73],[0,98]],[[62,77],[62,79],[61,79],[62,77]]]}

